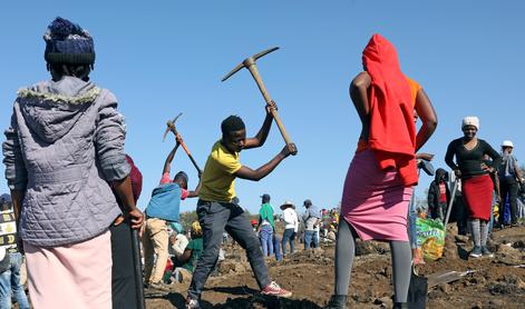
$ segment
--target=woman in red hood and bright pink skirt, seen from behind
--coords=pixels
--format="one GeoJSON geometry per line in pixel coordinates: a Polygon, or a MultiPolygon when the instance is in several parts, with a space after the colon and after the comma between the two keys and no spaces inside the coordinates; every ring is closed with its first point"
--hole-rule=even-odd
{"type": "Polygon", "coordinates": [[[392,252],[395,308],[406,306],[410,283],[407,216],[417,185],[415,153],[434,133],[437,117],[422,88],[400,70],[393,46],[373,34],[364,71],[350,84],[362,130],[344,181],[336,246],[336,287],[327,309],[344,308],[356,238],[385,240],[392,252]],[[422,127],[416,133],[414,110],[422,127]]]}

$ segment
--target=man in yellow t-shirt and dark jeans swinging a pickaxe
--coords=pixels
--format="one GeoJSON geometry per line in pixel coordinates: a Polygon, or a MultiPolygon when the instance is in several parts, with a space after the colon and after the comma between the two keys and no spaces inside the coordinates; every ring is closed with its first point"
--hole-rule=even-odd
{"type": "Polygon", "coordinates": [[[246,251],[263,295],[278,297],[292,295],[270,280],[259,239],[235,196],[235,178],[259,181],[272,172],[288,156],[296,152],[295,144],[285,146],[272,160],[256,170],[252,170],[239,161],[241,150],[264,144],[272,124],[272,109],[276,109],[273,102],[266,107],[264,122],[259,133],[253,138],[246,139],[244,122],[237,116],[230,116],[221,123],[222,139],[213,146],[202,176],[197,216],[203,229],[204,251],[193,272],[186,299],[187,309],[201,308],[202,289],[217,261],[224,230],[246,251]]]}

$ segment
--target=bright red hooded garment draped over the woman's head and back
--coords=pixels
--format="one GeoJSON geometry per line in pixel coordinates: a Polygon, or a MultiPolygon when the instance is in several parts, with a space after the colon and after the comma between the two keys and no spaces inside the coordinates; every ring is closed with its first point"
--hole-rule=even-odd
{"type": "Polygon", "coordinates": [[[375,152],[381,169],[395,168],[406,186],[416,185],[414,99],[396,49],[376,33],[362,52],[362,62],[372,80],[369,149],[375,152]]]}

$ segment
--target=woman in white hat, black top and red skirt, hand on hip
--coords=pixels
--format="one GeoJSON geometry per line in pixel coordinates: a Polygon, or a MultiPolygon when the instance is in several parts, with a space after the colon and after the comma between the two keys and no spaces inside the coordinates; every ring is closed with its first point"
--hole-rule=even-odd
{"type": "Polygon", "coordinates": [[[488,221],[494,185],[489,173],[499,166],[500,157],[490,144],[477,138],[479,119],[465,117],[461,122],[464,136],[448,144],[445,162],[461,179],[461,193],[468,208],[468,221],[473,229],[474,249],[470,257],[492,257],[487,249],[488,221]],[[484,162],[484,156],[493,159],[493,166],[484,162]],[[454,161],[456,157],[456,161],[454,161]]]}

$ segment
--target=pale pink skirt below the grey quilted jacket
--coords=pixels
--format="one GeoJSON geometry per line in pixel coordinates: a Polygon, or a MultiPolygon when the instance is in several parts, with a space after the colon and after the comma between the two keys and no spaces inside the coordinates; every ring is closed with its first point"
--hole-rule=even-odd
{"type": "Polygon", "coordinates": [[[111,309],[110,233],[64,247],[23,242],[29,297],[36,309],[111,309]]]}

